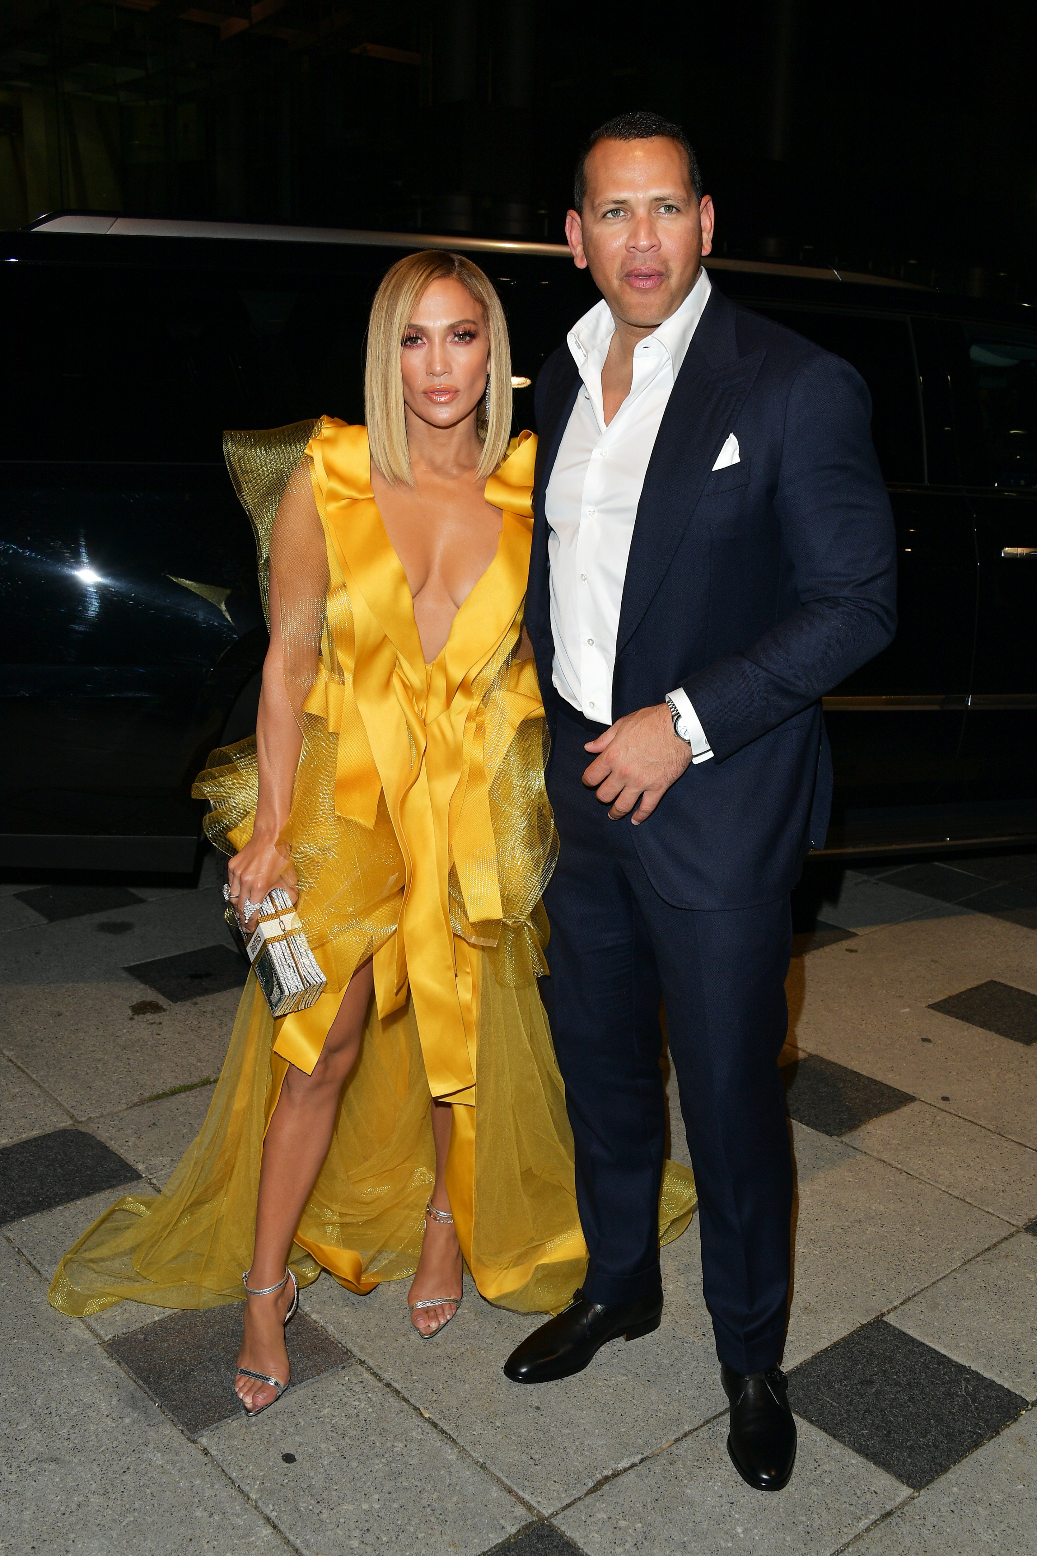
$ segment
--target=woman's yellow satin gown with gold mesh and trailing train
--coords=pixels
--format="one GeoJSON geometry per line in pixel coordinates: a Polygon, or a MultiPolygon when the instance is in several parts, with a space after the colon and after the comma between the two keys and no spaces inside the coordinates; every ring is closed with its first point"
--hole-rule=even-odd
{"type": "MultiPolygon", "coordinates": [[[[564,1089],[539,1002],[557,856],[546,722],[518,657],[536,439],[487,482],[496,557],[426,664],[414,601],[370,482],[367,431],[322,419],[227,434],[257,531],[264,601],[278,582],[285,680],[303,747],[283,840],[299,912],[328,979],[274,1021],[253,976],[211,1106],[160,1195],[127,1193],[65,1254],[50,1301],[96,1313],[243,1299],[263,1136],[289,1064],[312,1071],[354,968],[375,999],[326,1161],[289,1263],[351,1291],[414,1274],[434,1183],[431,1099],[452,1103],[446,1167],[468,1271],[491,1302],[557,1312],[586,1270],[564,1089]]],[[[255,739],[215,752],[194,794],[233,853],[257,803],[255,739]]],[[[695,1207],[667,1164],[662,1240],[695,1207]]]]}

